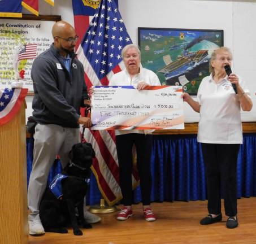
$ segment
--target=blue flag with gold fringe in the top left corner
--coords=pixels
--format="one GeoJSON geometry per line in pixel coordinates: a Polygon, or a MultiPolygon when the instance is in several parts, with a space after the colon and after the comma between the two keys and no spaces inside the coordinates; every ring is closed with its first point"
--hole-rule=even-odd
{"type": "Polygon", "coordinates": [[[1,0],[0,17],[22,18],[21,0],[1,0]]]}

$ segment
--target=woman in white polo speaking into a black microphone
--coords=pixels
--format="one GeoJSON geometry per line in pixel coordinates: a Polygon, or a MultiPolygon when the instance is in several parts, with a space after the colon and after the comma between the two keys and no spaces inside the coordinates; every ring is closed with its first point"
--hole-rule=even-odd
{"type": "Polygon", "coordinates": [[[227,228],[236,228],[236,169],[242,144],[240,110],[250,111],[253,103],[245,82],[235,73],[227,75],[225,68],[228,69],[231,63],[232,54],[227,47],[214,50],[210,59],[211,74],[199,85],[197,101],[188,93],[183,93],[183,100],[200,114],[197,141],[201,142],[206,167],[209,212],[200,224],[213,224],[222,220],[222,192],[225,215],[228,216],[227,228]]]}

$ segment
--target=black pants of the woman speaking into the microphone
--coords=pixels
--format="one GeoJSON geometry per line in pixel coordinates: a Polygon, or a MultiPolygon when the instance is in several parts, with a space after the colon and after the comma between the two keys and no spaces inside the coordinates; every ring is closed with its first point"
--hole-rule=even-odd
{"type": "Polygon", "coordinates": [[[240,144],[202,143],[206,166],[209,214],[221,212],[221,189],[225,215],[237,215],[237,155],[240,144]]]}

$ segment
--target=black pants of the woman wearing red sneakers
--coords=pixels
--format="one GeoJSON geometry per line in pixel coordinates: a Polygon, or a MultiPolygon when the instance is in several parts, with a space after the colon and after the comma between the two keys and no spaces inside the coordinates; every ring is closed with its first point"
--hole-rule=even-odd
{"type": "Polygon", "coordinates": [[[132,146],[136,146],[137,169],[140,175],[142,204],[150,204],[151,172],[150,156],[153,137],[145,134],[123,134],[116,136],[120,187],[124,206],[132,205],[132,146]]]}

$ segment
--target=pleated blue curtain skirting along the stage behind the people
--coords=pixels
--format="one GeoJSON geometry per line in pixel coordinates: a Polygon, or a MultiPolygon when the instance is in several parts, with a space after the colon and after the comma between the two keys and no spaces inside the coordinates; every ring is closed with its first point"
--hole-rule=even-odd
{"type": "MultiPolygon", "coordinates": [[[[206,199],[205,168],[196,135],[154,136],[151,155],[151,201],[196,201],[206,199]]],[[[244,134],[237,161],[237,197],[256,196],[256,133],[244,134]]],[[[28,181],[33,161],[33,138],[27,139],[28,181]]],[[[48,182],[62,170],[59,160],[51,168],[48,182]]],[[[134,203],[141,202],[140,186],[133,191],[134,203]]],[[[87,204],[101,198],[92,174],[87,204]]]]}

